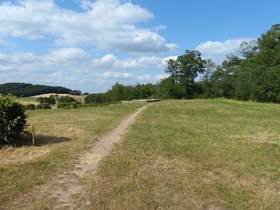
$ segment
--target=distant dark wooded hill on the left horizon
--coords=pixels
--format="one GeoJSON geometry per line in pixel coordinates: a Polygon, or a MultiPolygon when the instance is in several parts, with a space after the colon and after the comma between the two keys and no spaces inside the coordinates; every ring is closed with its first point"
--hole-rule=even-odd
{"type": "Polygon", "coordinates": [[[37,94],[46,93],[66,93],[72,92],[73,90],[66,87],[52,87],[47,85],[32,85],[28,83],[6,83],[0,85],[0,93],[8,94],[11,93],[17,97],[30,97],[37,94]]]}

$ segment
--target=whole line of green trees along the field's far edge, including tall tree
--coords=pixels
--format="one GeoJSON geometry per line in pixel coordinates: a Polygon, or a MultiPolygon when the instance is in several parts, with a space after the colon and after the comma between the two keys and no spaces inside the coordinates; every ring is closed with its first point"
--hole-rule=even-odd
{"type": "Polygon", "coordinates": [[[159,83],[115,83],[108,92],[90,94],[85,103],[215,97],[280,103],[279,41],[280,25],[277,24],[257,40],[241,43],[239,56],[227,55],[221,65],[216,65],[211,59],[202,59],[197,50],[186,50],[184,55],[167,61],[165,72],[169,73],[169,77],[159,83]]]}

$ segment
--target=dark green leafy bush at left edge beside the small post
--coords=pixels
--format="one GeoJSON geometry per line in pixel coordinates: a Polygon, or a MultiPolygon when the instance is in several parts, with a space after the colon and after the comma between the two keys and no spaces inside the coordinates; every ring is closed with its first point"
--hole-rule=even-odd
{"type": "Polygon", "coordinates": [[[25,105],[11,94],[0,94],[0,145],[10,145],[27,127],[25,105]]]}

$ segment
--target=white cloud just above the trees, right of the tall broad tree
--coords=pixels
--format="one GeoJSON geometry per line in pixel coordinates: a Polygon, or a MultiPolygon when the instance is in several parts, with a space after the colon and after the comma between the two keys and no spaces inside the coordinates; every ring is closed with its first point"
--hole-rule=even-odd
{"type": "Polygon", "coordinates": [[[224,42],[218,41],[207,41],[202,43],[195,48],[202,53],[204,58],[211,58],[217,64],[221,64],[226,57],[225,55],[234,54],[239,55],[239,46],[243,41],[249,42],[255,38],[238,38],[238,39],[229,39],[224,42]]]}

